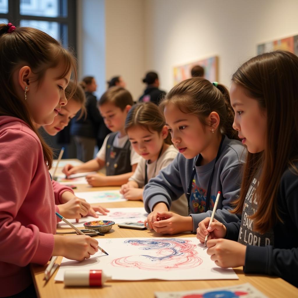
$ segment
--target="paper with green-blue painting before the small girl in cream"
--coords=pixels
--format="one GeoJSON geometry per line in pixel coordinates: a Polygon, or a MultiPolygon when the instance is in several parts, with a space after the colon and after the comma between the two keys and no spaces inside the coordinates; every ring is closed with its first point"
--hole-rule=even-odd
{"type": "Polygon", "coordinates": [[[75,193],[75,195],[85,199],[89,204],[127,201],[119,190],[86,191],[75,193]]]}

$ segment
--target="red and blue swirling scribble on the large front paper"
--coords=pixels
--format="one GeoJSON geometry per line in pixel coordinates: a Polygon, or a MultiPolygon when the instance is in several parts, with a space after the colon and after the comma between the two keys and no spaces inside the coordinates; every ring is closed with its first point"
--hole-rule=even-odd
{"type": "Polygon", "coordinates": [[[139,249],[149,251],[152,255],[142,254],[121,257],[111,262],[116,267],[131,267],[142,270],[164,271],[173,269],[190,269],[201,265],[195,245],[190,240],[169,239],[130,239],[124,243],[141,246],[139,249]]]}

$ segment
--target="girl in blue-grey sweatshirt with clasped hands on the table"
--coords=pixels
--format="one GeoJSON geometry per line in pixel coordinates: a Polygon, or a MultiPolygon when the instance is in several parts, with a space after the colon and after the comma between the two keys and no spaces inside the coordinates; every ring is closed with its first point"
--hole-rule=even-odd
{"type": "Polygon", "coordinates": [[[232,128],[228,90],[217,82],[192,78],[177,84],[159,106],[179,154],[145,186],[149,228],[162,234],[195,232],[211,215],[218,191],[215,217],[237,220],[229,210],[240,189],[244,147],[232,128]],[[182,194],[187,196],[190,216],[169,212],[172,201],[182,194]]]}

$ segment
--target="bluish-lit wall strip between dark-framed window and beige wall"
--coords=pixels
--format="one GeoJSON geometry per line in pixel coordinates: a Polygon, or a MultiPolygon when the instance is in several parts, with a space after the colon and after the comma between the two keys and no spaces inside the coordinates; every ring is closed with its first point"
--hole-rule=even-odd
{"type": "Polygon", "coordinates": [[[97,81],[99,97],[105,85],[105,1],[77,1],[78,78],[91,75],[97,81]]]}

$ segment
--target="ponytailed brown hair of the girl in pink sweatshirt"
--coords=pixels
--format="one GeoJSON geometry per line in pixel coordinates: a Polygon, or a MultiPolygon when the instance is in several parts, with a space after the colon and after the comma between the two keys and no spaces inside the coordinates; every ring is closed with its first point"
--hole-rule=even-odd
{"type": "MultiPolygon", "coordinates": [[[[71,70],[75,89],[77,81],[76,59],[58,41],[40,30],[17,27],[16,30],[8,33],[8,29],[6,24],[0,24],[0,116],[17,117],[28,124],[38,135],[44,159],[50,169],[53,160],[52,150],[34,127],[27,104],[16,94],[13,72],[18,66],[28,65],[36,75],[38,84],[41,84],[46,70],[55,68],[62,63],[65,70],[57,79],[65,77],[71,70]]],[[[71,90],[68,96],[72,97],[73,93],[71,90]]]]}

